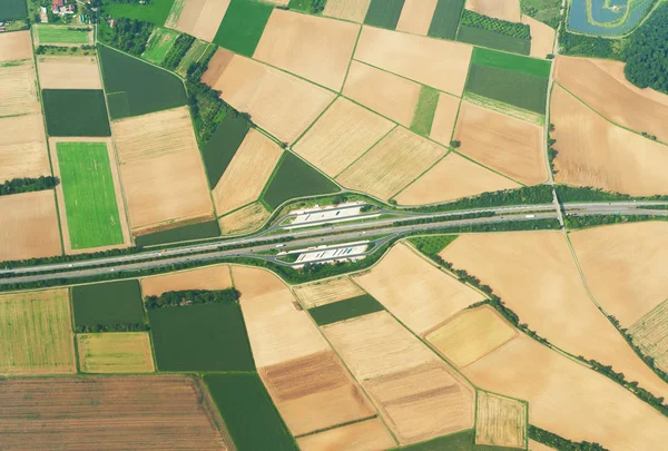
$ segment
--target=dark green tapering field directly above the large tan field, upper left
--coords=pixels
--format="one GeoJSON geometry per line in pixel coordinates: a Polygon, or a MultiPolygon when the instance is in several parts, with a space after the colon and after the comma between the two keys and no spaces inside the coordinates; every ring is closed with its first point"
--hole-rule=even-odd
{"type": "Polygon", "coordinates": [[[186,105],[186,90],[174,75],[106,46],[98,46],[111,119],[186,105]]]}

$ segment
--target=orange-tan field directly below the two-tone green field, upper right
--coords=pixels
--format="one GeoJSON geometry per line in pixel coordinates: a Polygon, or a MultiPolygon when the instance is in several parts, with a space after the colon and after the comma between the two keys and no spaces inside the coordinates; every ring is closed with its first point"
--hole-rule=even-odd
{"type": "Polygon", "coordinates": [[[527,185],[548,178],[543,128],[463,101],[454,139],[458,149],[482,165],[527,185]]]}

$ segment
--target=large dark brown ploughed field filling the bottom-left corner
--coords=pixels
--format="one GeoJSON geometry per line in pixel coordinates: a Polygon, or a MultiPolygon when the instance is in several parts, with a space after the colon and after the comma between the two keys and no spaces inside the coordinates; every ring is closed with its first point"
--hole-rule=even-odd
{"type": "Polygon", "coordinates": [[[0,380],[0,441],[12,451],[230,449],[203,390],[180,375],[0,380]]]}

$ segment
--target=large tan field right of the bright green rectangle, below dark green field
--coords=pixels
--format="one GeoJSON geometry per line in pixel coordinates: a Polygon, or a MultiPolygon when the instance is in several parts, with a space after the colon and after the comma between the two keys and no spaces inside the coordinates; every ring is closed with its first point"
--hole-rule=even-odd
{"type": "Polygon", "coordinates": [[[132,231],[213,217],[188,107],[111,122],[132,231]]]}

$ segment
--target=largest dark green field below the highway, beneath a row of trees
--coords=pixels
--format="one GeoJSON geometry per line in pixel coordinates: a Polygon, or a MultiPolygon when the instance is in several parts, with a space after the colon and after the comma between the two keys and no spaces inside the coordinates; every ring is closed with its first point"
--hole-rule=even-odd
{"type": "Polygon", "coordinates": [[[235,302],[148,311],[160,371],[253,371],[242,310],[235,302]]]}

